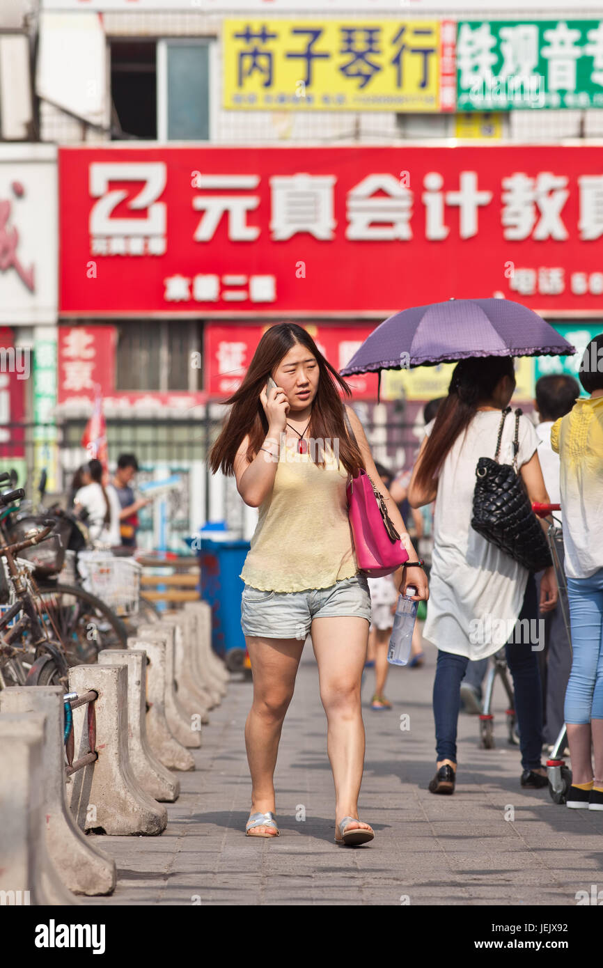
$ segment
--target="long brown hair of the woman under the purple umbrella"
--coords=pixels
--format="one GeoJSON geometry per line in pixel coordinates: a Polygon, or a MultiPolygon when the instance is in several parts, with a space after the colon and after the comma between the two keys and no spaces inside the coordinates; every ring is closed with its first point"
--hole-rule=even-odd
{"type": "Polygon", "coordinates": [[[471,357],[457,363],[448,396],[437,409],[432,433],[425,444],[415,479],[418,487],[432,485],[454,441],[467,430],[480,402],[490,398],[503,377],[514,378],[511,356],[471,357]]]}

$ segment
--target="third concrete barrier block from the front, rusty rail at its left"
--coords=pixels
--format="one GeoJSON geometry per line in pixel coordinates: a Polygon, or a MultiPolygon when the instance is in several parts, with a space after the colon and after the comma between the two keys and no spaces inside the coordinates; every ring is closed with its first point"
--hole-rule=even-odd
{"type": "MultiPolygon", "coordinates": [[[[99,757],[70,777],[70,807],[86,831],[155,835],[166,829],[167,811],[138,786],[128,753],[128,670],[125,666],[75,666],[70,690],[94,689],[99,757]]],[[[75,759],[87,752],[87,706],[74,710],[75,759]]]]}

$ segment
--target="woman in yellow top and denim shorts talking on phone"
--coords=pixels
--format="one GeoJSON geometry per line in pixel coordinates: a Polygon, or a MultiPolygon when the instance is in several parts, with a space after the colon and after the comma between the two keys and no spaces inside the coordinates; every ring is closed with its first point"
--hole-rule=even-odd
{"type": "Polygon", "coordinates": [[[344,408],[346,381],[295,323],[262,336],[246,377],[227,401],[225,427],[210,454],[215,473],[236,476],[246,504],[259,508],[241,578],[241,617],[254,676],[245,727],[252,775],[251,836],[278,836],[273,775],[286,710],[308,633],[317,658],[335,782],[335,839],[359,844],[372,828],[358,819],[364,762],[360,681],[371,599],[358,571],[347,520],[349,475],[366,469],[409,555],[401,591],[427,598],[416,553],[383,486],[360,421],[344,408]],[[273,385],[270,385],[273,381],[273,385]],[[347,434],[345,410],[356,441],[347,434]]]}

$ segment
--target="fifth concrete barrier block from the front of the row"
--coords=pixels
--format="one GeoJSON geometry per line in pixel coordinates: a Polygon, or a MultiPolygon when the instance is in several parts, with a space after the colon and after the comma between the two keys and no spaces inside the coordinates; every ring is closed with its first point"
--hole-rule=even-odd
{"type": "Polygon", "coordinates": [[[166,641],[148,641],[136,636],[128,639],[128,649],[146,652],[147,674],[146,735],[155,756],[168,770],[195,770],[193,754],[178,742],[166,719],[166,641]]]}

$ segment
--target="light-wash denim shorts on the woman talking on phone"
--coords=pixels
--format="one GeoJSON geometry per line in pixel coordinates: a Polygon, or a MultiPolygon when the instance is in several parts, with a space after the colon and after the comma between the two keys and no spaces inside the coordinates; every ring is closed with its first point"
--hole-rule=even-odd
{"type": "Polygon", "coordinates": [[[241,597],[244,635],[305,641],[313,619],[358,616],[371,621],[371,593],[362,574],[328,589],[260,591],[246,585],[241,597]]]}

